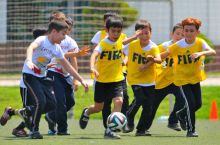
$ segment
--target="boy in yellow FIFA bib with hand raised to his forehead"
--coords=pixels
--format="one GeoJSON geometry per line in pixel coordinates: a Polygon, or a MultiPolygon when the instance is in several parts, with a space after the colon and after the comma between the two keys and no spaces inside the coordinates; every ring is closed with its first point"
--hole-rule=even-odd
{"type": "Polygon", "coordinates": [[[135,102],[127,111],[128,126],[134,126],[134,115],[140,106],[143,110],[137,124],[136,136],[151,135],[147,129],[147,123],[151,118],[151,108],[155,97],[156,68],[154,63],[161,63],[158,46],[150,40],[151,24],[146,20],[139,20],[135,25],[135,31],[142,31],[137,40],[126,45],[124,53],[128,56],[128,83],[131,85],[135,96],[135,102]],[[154,63],[143,68],[149,61],[154,63]],[[135,107],[136,106],[136,107],[135,107]]]}

